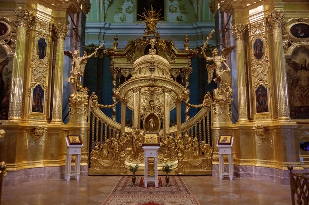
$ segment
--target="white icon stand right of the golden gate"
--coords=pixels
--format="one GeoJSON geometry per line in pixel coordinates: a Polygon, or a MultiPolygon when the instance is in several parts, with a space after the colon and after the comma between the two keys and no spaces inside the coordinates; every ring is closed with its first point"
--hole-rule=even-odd
{"type": "Polygon", "coordinates": [[[233,155],[232,155],[232,145],[233,145],[233,138],[231,145],[218,145],[219,149],[219,179],[222,180],[223,176],[227,175],[230,178],[230,181],[233,179],[234,167],[233,167],[233,155]],[[228,155],[229,159],[229,171],[224,171],[224,154],[228,155]]]}

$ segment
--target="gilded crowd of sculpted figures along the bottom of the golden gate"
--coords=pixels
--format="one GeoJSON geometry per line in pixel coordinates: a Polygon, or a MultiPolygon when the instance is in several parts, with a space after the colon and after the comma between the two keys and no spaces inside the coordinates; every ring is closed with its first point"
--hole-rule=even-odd
{"type": "MultiPolygon", "coordinates": [[[[115,137],[95,146],[90,157],[100,160],[119,160],[120,154],[125,153],[127,161],[143,162],[142,142],[143,135],[139,129],[123,133],[121,136],[116,134],[115,137]]],[[[188,133],[176,137],[168,134],[166,139],[161,137],[158,153],[160,161],[170,162],[177,160],[179,156],[187,160],[211,158],[212,148],[205,141],[199,143],[196,137],[193,138],[188,133]]]]}

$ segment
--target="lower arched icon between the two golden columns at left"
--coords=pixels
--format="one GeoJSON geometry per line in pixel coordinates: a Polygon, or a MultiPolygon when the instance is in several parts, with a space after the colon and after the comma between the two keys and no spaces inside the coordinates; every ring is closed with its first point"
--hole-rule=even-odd
{"type": "Polygon", "coordinates": [[[38,84],[32,91],[32,105],[31,111],[36,113],[44,113],[44,90],[38,84]]]}

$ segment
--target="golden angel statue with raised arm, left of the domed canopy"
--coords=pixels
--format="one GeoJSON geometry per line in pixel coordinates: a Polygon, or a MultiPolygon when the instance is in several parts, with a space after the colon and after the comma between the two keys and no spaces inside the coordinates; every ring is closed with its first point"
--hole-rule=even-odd
{"type": "Polygon", "coordinates": [[[89,56],[87,55],[87,52],[84,52],[83,57],[80,57],[80,52],[78,50],[74,50],[73,54],[71,51],[65,51],[64,54],[67,55],[68,57],[70,57],[72,59],[71,62],[71,71],[70,71],[70,79],[74,79],[73,80],[73,94],[77,94],[77,88],[81,89],[82,85],[81,85],[81,76],[83,76],[84,71],[85,71],[85,67],[87,64],[87,61],[90,57],[92,57],[93,55],[95,55],[98,51],[99,48],[101,48],[104,45],[104,43],[102,45],[100,45],[99,47],[97,47],[95,49],[95,51],[90,54],[89,56]]]}

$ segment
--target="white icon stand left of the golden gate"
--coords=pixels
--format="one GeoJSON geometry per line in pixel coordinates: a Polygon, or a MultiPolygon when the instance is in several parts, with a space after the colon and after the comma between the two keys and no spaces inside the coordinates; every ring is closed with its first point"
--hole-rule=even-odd
{"type": "Polygon", "coordinates": [[[64,174],[64,180],[70,181],[71,176],[75,176],[75,179],[79,180],[80,175],[80,159],[81,159],[81,148],[82,145],[70,145],[68,139],[67,142],[67,153],[66,153],[66,169],[64,174]],[[72,155],[75,155],[75,170],[71,172],[71,159],[72,155]]]}

